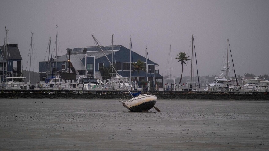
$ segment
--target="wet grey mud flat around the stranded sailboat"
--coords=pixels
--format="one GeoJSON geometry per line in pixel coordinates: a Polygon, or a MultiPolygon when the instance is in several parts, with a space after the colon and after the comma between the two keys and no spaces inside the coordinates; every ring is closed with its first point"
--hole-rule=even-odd
{"type": "Polygon", "coordinates": [[[269,150],[269,102],[0,99],[0,150],[269,150]]]}

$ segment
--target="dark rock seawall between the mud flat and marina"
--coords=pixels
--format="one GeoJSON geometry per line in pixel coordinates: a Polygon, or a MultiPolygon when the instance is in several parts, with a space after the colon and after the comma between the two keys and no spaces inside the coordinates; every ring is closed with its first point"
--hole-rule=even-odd
{"type": "MultiPolygon", "coordinates": [[[[148,92],[144,92],[148,93],[148,92]]],[[[197,99],[197,100],[269,100],[269,92],[158,92],[151,91],[158,99],[197,99]]],[[[5,90],[1,98],[51,98],[51,99],[119,99],[128,95],[126,91],[33,91],[5,90]]]]}

